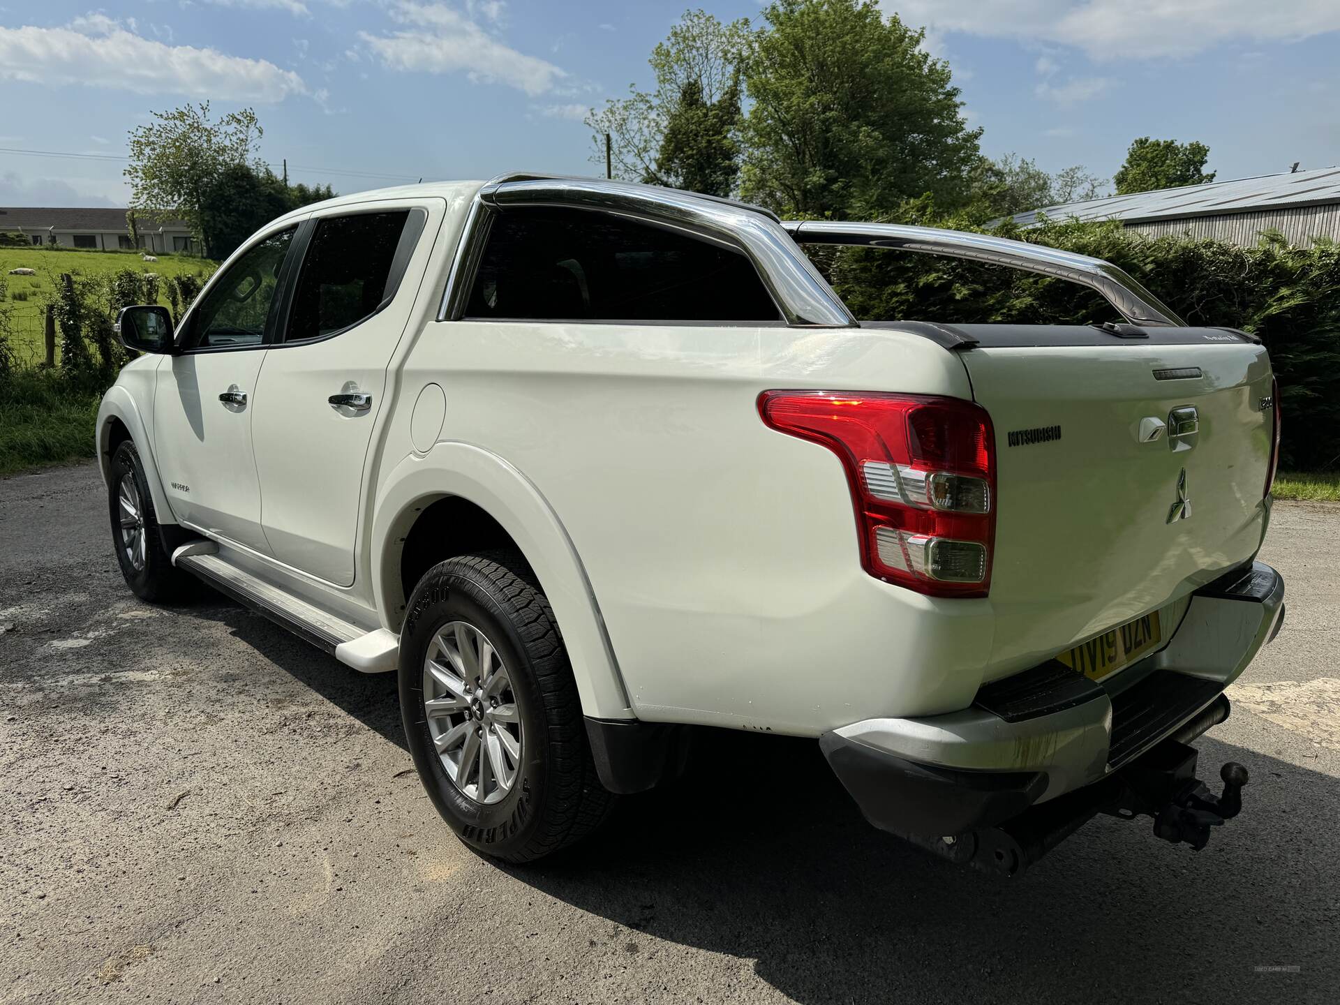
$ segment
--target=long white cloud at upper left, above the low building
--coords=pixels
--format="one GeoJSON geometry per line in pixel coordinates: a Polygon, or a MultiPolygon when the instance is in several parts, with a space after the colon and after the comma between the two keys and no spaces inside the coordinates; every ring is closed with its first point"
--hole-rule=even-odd
{"type": "Polygon", "coordinates": [[[64,28],[0,27],[0,80],[257,103],[307,92],[303,78],[264,59],[166,46],[105,15],[76,17],[64,28]]]}

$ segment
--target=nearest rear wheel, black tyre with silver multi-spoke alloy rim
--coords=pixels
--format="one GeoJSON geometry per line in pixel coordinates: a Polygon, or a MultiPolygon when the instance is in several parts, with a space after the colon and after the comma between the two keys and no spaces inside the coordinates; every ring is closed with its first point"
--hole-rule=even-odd
{"type": "Polygon", "coordinates": [[[419,580],[401,631],[401,716],[423,788],[482,855],[533,862],[604,821],[559,626],[519,555],[466,555],[419,580]]]}

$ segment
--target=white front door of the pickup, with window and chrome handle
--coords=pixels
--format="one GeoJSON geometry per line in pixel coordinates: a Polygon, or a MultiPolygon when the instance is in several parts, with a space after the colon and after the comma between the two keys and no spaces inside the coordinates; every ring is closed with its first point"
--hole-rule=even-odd
{"type": "Polygon", "coordinates": [[[158,367],[154,395],[154,453],[173,513],[264,553],[252,413],[296,229],[264,236],[210,284],[182,323],[180,354],[158,367]]]}

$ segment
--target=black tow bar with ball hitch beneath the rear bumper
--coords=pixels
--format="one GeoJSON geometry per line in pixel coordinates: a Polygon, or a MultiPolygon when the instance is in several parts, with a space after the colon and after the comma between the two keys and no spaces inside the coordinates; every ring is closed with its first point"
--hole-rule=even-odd
{"type": "Polygon", "coordinates": [[[951,838],[907,836],[934,855],[985,872],[1014,876],[1041,859],[1099,813],[1122,820],[1154,817],[1154,833],[1199,851],[1210,828],[1242,811],[1248,769],[1229,761],[1219,769],[1222,795],[1195,777],[1197,750],[1164,740],[1120,772],[1076,792],[1030,807],[1013,820],[951,838]]]}

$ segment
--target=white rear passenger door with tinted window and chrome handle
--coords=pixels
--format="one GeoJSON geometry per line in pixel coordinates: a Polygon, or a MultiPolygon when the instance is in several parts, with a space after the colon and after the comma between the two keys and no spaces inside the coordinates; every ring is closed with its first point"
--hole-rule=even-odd
{"type": "Polygon", "coordinates": [[[371,202],[308,221],[281,336],[257,382],[252,436],[265,539],[280,561],[336,586],[354,583],[386,367],[444,206],[371,202]]]}

